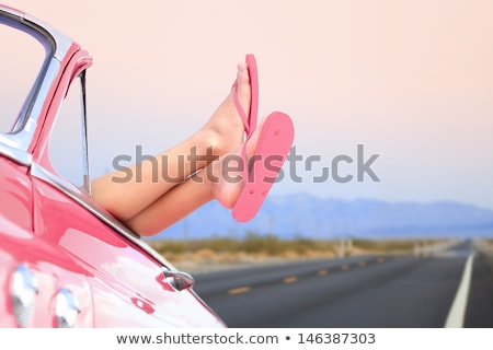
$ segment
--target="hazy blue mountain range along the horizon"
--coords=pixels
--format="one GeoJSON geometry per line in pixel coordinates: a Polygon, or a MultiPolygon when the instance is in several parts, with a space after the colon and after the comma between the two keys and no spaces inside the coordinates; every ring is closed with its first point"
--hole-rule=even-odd
{"type": "Polygon", "coordinates": [[[493,236],[493,211],[451,201],[388,202],[291,194],[268,197],[248,223],[236,222],[229,210],[210,202],[153,238],[242,237],[250,231],[282,238],[493,236]]]}

